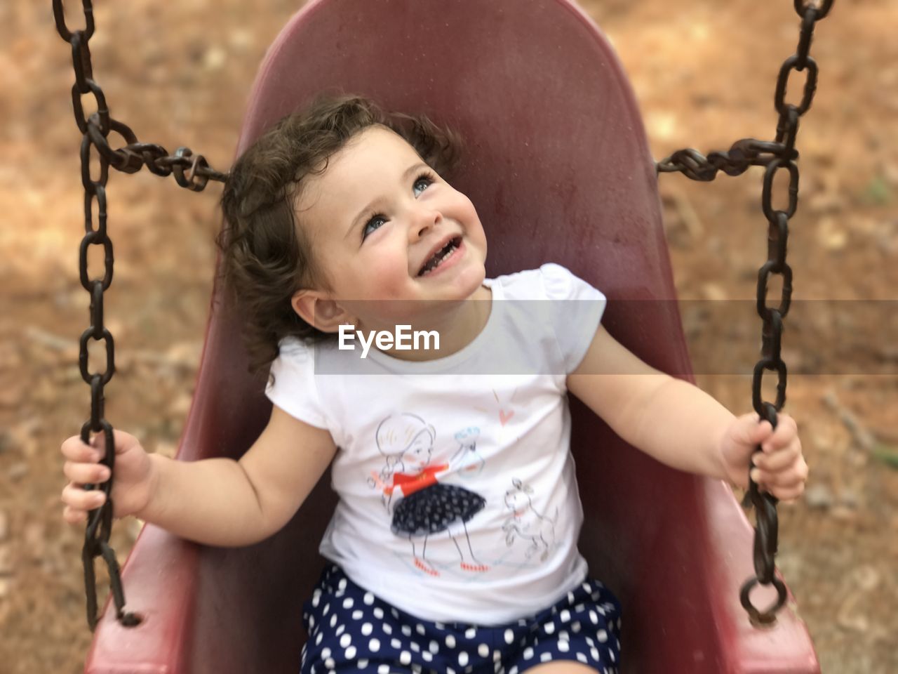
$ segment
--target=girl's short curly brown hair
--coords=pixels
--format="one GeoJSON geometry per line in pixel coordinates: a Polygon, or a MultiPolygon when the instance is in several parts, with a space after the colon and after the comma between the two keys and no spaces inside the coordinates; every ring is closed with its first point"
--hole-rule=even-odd
{"type": "Polygon", "coordinates": [[[290,304],[297,290],[326,284],[295,199],[306,176],[323,173],[348,140],[375,125],[404,138],[436,173],[452,172],[460,146],[453,131],[350,95],[320,96],[287,115],[233,165],[221,200],[225,226],[216,243],[225,300],[245,319],[243,341],[253,373],[269,367],[286,336],[306,342],[335,338],[306,323],[290,304]]]}

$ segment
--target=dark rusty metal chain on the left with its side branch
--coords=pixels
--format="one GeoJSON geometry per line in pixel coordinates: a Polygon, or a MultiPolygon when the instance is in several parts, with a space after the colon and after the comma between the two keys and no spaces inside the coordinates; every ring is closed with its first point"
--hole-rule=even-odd
{"type": "MultiPolygon", "coordinates": [[[[140,618],[134,613],[126,613],[125,595],[122,590],[119,563],[115,551],[110,546],[112,533],[112,483],[115,476],[115,442],[112,426],[104,416],[103,386],[106,386],[115,373],[115,342],[112,334],[103,324],[103,293],[112,283],[112,242],[106,232],[106,183],[109,180],[110,166],[122,173],[136,173],[144,165],[156,175],[168,176],[174,173],[175,181],[181,187],[192,191],[202,191],[208,181],[224,182],[226,173],[212,170],[203,155],[194,155],[189,148],[180,147],[174,155],[169,155],[163,146],[153,143],[140,143],[131,129],[110,117],[106,97],[100,85],[93,80],[91,51],[88,41],[94,30],[92,0],[82,0],[85,28],[69,31],[66,26],[63,0],[53,0],[53,16],[57,31],[63,40],[72,45],[72,65],[75,68],[75,85],[72,87],[72,107],[75,111],[75,124],[82,133],[81,141],[81,180],[84,184],[84,238],[79,252],[81,285],[91,294],[91,324],[81,335],[81,350],[78,358],[81,376],[91,386],[91,418],[81,427],[81,439],[86,443],[92,434],[102,433],[106,441],[106,455],[101,463],[110,468],[110,479],[99,485],[106,494],[106,501],[101,508],[91,510],[88,514],[87,530],[84,535],[84,588],[87,594],[87,624],[91,630],[96,627],[97,591],[94,560],[102,557],[109,568],[110,588],[115,602],[116,616],[119,623],[125,626],[139,624],[140,618]],[[96,102],[97,111],[85,119],[82,96],[91,94],[96,102]],[[110,147],[108,137],[115,131],[125,138],[128,145],[119,149],[110,147]],[[96,152],[96,160],[100,168],[100,176],[94,180],[91,176],[91,154],[96,152]],[[96,205],[96,221],[94,221],[94,204],[96,205]],[[92,245],[102,246],[105,270],[101,279],[91,279],[88,271],[87,256],[92,245]],[[91,341],[104,342],[106,350],[106,367],[102,372],[91,372],[88,366],[88,347],[91,341]]],[[[94,490],[98,485],[85,484],[84,489],[94,490]]]]}

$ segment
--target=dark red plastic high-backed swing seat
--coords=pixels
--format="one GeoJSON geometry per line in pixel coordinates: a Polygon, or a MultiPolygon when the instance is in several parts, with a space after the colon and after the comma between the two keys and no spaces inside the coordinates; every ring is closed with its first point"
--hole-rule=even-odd
{"type": "MultiPolygon", "coordinates": [[[[607,295],[603,324],[617,339],[692,380],[637,104],[608,41],[575,5],[315,0],[269,49],[237,155],[324,89],[460,131],[453,182],[487,230],[489,276],[559,262],[607,295]]],[[[247,375],[241,316],[218,291],[183,460],[239,457],[269,418],[264,382],[247,375]]],[[[621,599],[622,671],[818,672],[791,602],[775,626],[749,624],[738,597],[753,573],[753,534],[729,487],[630,448],[577,400],[572,414],[580,545],[591,574],[621,599]]],[[[123,570],[128,609],[143,622],[122,627],[107,605],[86,671],[298,671],[302,603],[323,566],[317,547],[333,504],[325,478],[286,528],[239,549],[146,526],[123,570]]]]}

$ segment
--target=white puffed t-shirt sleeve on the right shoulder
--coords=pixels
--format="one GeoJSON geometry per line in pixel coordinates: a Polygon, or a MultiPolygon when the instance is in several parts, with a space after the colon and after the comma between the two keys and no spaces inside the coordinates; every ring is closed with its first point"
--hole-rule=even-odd
{"type": "Polygon", "coordinates": [[[552,326],[565,374],[577,369],[602,322],[607,300],[601,291],[559,264],[540,267],[546,298],[552,301],[552,326]]]}

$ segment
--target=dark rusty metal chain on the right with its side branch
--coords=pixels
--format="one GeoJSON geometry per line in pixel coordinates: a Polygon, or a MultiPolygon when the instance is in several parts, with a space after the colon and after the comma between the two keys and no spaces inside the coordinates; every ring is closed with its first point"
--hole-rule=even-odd
{"type": "MultiPolygon", "coordinates": [[[[762,318],[762,359],[754,366],[752,379],[752,404],[758,412],[760,420],[770,421],[777,427],[777,413],[786,403],[786,364],[780,358],[780,342],[782,341],[783,318],[788,314],[792,296],[792,268],[786,263],[786,243],[788,240],[788,220],[795,215],[798,206],[798,153],[795,141],[798,134],[798,119],[810,110],[814,101],[817,86],[818,68],[809,56],[811,40],[814,36],[816,22],[823,19],[832,9],[834,0],[820,0],[818,4],[806,0],[793,0],[795,9],[801,17],[801,34],[798,40],[797,53],[786,59],[779,70],[774,103],[779,112],[776,140],[772,143],[753,138],[737,141],[728,152],[713,152],[706,159],[693,149],[675,152],[657,164],[658,173],[680,172],[691,180],[712,181],[718,171],[728,175],[739,175],[751,165],[766,166],[762,189],[761,208],[768,220],[767,262],[758,272],[757,311],[762,318]],[[805,89],[799,105],[786,102],[786,88],[792,71],[807,70],[805,89]],[[773,180],[779,170],[787,170],[789,176],[788,208],[778,210],[772,205],[773,180]],[[779,275],[782,278],[782,294],[779,306],[767,306],[767,288],[770,277],[779,275]],[[762,400],[761,383],[764,370],[777,373],[777,398],[775,403],[762,400]]],[[[761,451],[761,446],[754,448],[761,451]]],[[[786,585],[775,574],[774,559],[777,554],[777,538],[779,521],[777,518],[777,499],[767,492],[761,492],[749,471],[748,492],[744,505],[755,509],[756,525],[754,529],[754,577],[744,582],[739,599],[748,612],[753,625],[773,625],[776,614],[786,603],[786,585]],[[773,585],[777,590],[776,601],[768,608],[760,610],[752,603],[749,596],[755,585],[773,585]]]]}

